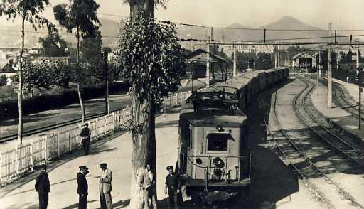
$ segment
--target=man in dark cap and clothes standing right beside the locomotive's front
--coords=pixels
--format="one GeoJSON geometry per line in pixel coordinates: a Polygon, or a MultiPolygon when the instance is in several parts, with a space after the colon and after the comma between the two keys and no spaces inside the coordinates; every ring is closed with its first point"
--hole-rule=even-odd
{"type": "Polygon", "coordinates": [[[168,191],[168,208],[178,208],[178,193],[180,188],[180,179],[177,173],[173,172],[173,166],[167,166],[168,175],[166,176],[166,186],[164,193],[168,191]]]}

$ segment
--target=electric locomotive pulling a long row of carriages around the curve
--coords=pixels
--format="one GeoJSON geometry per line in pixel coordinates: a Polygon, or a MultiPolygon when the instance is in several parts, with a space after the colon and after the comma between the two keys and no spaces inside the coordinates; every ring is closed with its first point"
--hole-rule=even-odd
{"type": "Polygon", "coordinates": [[[178,173],[194,202],[249,195],[252,154],[244,111],[259,91],[288,77],[289,68],[244,73],[194,91],[181,105],[178,173]]]}

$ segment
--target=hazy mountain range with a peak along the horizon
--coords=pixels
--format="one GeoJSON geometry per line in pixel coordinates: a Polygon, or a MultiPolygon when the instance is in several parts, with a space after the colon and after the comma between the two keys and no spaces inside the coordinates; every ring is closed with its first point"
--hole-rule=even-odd
{"type": "MultiPolygon", "coordinates": [[[[117,21],[100,18],[102,43],[104,45],[114,46],[117,43],[117,36],[119,35],[120,23],[117,21]]],[[[21,33],[19,32],[20,26],[12,26],[11,24],[6,26],[0,26],[3,30],[0,30],[0,47],[16,47],[21,44],[21,33]]],[[[266,26],[260,28],[254,28],[244,26],[240,23],[234,23],[225,28],[213,28],[213,39],[214,40],[240,40],[240,41],[262,41],[264,39],[264,28],[266,30],[266,40],[274,39],[293,39],[293,38],[310,38],[301,39],[298,41],[333,41],[330,38],[315,38],[315,37],[326,37],[329,36],[328,31],[322,28],[316,28],[309,24],[302,23],[298,19],[291,16],[284,16],[278,21],[269,23],[266,26]],[[273,30],[273,31],[272,31],[273,30]],[[283,30],[283,31],[282,31],[283,30]],[[284,31],[294,30],[294,31],[284,31]]],[[[36,47],[40,46],[38,43],[39,37],[46,36],[47,31],[44,28],[39,28],[37,33],[30,26],[26,26],[26,46],[36,47]]],[[[60,30],[62,37],[75,45],[75,36],[66,33],[65,30],[60,30]]],[[[193,27],[193,26],[181,26],[178,27],[178,36],[180,38],[197,38],[197,39],[208,39],[210,36],[210,28],[193,27]]],[[[285,42],[297,41],[284,40],[285,42]]],[[[348,38],[337,38],[337,41],[348,41],[348,38]]]]}

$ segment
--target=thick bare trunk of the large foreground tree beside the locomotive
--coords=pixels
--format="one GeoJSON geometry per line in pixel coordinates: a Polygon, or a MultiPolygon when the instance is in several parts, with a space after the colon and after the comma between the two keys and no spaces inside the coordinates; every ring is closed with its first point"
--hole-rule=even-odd
{"type": "MultiPolygon", "coordinates": [[[[145,17],[154,16],[154,0],[130,1],[130,16],[135,20],[139,11],[145,17]]],[[[132,92],[132,119],[134,124],[142,124],[139,132],[133,132],[132,140],[132,182],[130,208],[141,209],[143,205],[143,191],[137,183],[138,174],[146,164],[151,164],[156,179],[156,134],[155,134],[155,109],[151,97],[140,102],[132,92]]],[[[156,186],[155,188],[156,189],[156,186]]]]}

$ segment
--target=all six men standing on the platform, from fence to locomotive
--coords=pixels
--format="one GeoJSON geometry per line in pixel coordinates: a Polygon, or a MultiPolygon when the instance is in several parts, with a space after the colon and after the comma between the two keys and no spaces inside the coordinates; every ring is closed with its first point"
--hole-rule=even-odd
{"type": "MultiPolygon", "coordinates": [[[[91,130],[88,124],[84,124],[80,136],[82,137],[82,148],[85,155],[90,150],[91,130]]],[[[45,165],[41,166],[41,173],[36,177],[36,191],[39,195],[39,208],[48,207],[48,193],[50,193],[50,183],[45,165]]],[[[78,208],[87,209],[88,184],[86,175],[89,173],[87,166],[79,166],[80,172],[77,173],[77,194],[78,208]]],[[[107,164],[100,164],[102,174],[100,176],[100,205],[101,209],[112,209],[112,171],[107,168],[107,164]]],[[[164,193],[168,193],[168,208],[178,208],[178,193],[180,188],[179,176],[173,172],[173,166],[167,166],[168,175],[166,176],[164,193]]],[[[144,208],[157,209],[156,203],[156,177],[152,171],[151,165],[147,164],[145,169],[139,173],[138,183],[143,190],[144,208]],[[149,203],[151,202],[151,203],[149,203]]]]}

